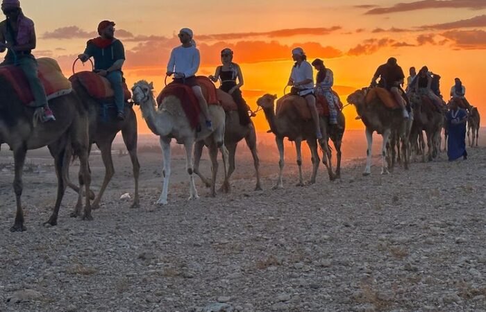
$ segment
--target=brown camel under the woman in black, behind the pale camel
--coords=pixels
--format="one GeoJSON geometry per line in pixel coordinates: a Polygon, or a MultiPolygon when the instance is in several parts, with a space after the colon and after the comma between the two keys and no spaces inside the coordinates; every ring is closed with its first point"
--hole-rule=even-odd
{"type": "MultiPolygon", "coordinates": [[[[219,101],[229,101],[231,102],[234,107],[236,107],[236,103],[234,103],[233,98],[231,95],[226,94],[225,92],[218,91],[217,93],[219,101]],[[221,98],[224,97],[224,98],[221,98]]],[[[224,144],[226,148],[228,148],[229,153],[229,168],[228,168],[228,177],[226,179],[226,185],[223,185],[221,188],[223,191],[231,191],[230,186],[230,177],[235,172],[235,154],[236,148],[238,146],[238,142],[242,139],[245,139],[246,145],[251,151],[251,155],[253,156],[253,165],[255,166],[255,173],[256,173],[256,186],[255,191],[261,191],[262,186],[260,184],[260,160],[258,159],[258,151],[256,148],[256,132],[255,132],[255,125],[253,121],[250,125],[244,126],[240,124],[240,118],[238,116],[238,112],[235,110],[226,110],[226,127],[224,131],[224,144]]],[[[201,172],[199,171],[199,161],[201,160],[201,155],[203,152],[203,147],[205,146],[204,141],[196,142],[194,146],[194,173],[201,177],[201,180],[206,187],[211,186],[211,182],[204,177],[201,172]]]]}

